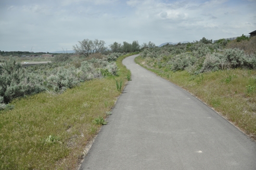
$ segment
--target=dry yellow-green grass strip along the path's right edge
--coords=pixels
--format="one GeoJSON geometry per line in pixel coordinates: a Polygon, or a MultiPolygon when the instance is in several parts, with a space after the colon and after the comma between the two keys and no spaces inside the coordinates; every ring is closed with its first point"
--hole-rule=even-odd
{"type": "Polygon", "coordinates": [[[141,66],[188,90],[252,139],[256,139],[256,70],[223,70],[199,75],[154,67],[154,60],[137,57],[141,66]]]}

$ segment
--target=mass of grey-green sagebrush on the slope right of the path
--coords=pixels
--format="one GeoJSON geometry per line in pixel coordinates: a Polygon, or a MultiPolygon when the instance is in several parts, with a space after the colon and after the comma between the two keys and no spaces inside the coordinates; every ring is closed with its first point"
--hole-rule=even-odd
{"type": "Polygon", "coordinates": [[[235,68],[256,69],[256,36],[250,41],[228,42],[222,39],[213,44],[202,38],[194,43],[145,49],[140,56],[151,58],[155,67],[186,70],[190,74],[235,68]]]}

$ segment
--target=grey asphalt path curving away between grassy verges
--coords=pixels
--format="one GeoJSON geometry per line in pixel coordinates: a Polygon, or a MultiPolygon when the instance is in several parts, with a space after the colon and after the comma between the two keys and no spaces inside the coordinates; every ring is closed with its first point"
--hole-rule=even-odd
{"type": "Polygon", "coordinates": [[[256,142],[187,91],[138,66],[80,169],[256,169],[256,142]]]}

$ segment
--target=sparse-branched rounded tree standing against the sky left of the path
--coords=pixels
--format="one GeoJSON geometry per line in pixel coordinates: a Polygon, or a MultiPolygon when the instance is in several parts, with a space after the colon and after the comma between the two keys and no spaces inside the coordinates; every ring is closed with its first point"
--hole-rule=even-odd
{"type": "Polygon", "coordinates": [[[95,39],[92,41],[85,39],[82,42],[79,41],[79,45],[73,46],[73,50],[76,54],[88,57],[93,53],[103,53],[107,49],[104,45],[105,42],[103,40],[95,39]]]}

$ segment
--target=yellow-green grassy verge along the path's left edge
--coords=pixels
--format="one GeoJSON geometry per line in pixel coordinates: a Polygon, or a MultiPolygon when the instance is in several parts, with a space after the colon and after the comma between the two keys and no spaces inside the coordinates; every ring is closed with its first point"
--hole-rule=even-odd
{"type": "MultiPolygon", "coordinates": [[[[0,169],[76,169],[86,143],[106,118],[121,91],[116,80],[131,74],[118,58],[118,76],[95,79],[63,94],[41,93],[11,102],[0,112],[0,169]]],[[[122,86],[121,89],[123,89],[122,86]]]]}

